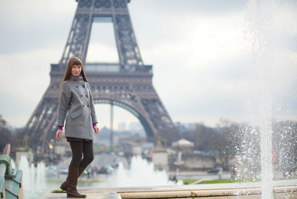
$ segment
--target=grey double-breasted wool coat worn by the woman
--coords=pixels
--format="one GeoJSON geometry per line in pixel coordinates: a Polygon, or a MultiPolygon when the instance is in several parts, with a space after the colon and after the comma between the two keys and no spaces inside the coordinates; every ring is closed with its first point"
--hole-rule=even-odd
{"type": "Polygon", "coordinates": [[[93,123],[98,123],[98,120],[90,85],[83,77],[71,75],[62,84],[57,125],[64,126],[64,121],[66,138],[94,140],[93,123]]]}

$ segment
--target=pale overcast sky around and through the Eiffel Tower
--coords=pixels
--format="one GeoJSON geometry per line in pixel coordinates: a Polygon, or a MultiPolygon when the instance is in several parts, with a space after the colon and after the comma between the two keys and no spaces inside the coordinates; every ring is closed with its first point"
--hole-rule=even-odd
{"type": "MultiPolygon", "coordinates": [[[[50,63],[61,58],[76,6],[75,0],[1,0],[0,114],[10,125],[24,126],[42,99],[50,63]]],[[[214,126],[219,118],[258,120],[254,110],[263,93],[258,78],[267,74],[262,70],[259,76],[252,63],[249,30],[271,36],[267,47],[273,50],[262,62],[269,60],[271,69],[273,117],[297,119],[297,3],[286,0],[260,9],[264,18],[272,13],[271,31],[260,23],[261,16],[251,29],[245,25],[256,6],[249,8],[247,0],[129,3],[142,58],[153,65],[153,86],[174,122],[214,126]]],[[[111,23],[93,24],[87,61],[118,61],[111,23]]],[[[99,127],[109,127],[109,109],[96,104],[99,127]]],[[[115,129],[134,121],[127,110],[114,108],[115,129]]]]}

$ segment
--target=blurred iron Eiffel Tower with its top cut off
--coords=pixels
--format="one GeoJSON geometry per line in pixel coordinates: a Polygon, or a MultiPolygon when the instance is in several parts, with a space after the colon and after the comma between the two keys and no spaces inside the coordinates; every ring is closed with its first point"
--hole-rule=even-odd
{"type": "Polygon", "coordinates": [[[95,103],[109,103],[133,113],[142,123],[148,141],[156,136],[172,143],[180,138],[152,86],[152,65],[143,63],[127,4],[130,0],[76,0],[70,33],[58,64],[50,64],[50,84],[24,128],[33,149],[47,151],[57,130],[57,97],[67,61],[79,57],[95,103]],[[119,63],[86,63],[92,24],[113,23],[119,63]]]}

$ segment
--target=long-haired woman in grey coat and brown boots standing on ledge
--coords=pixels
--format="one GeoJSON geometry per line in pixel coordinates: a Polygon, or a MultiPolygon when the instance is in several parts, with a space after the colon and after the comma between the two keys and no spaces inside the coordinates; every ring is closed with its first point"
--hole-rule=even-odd
{"type": "Polygon", "coordinates": [[[72,57],[67,64],[58,103],[56,138],[61,138],[66,117],[65,137],[72,151],[68,177],[60,189],[67,191],[67,198],[86,198],[77,191],[77,179],[94,159],[93,129],[99,133],[99,128],[90,85],[78,57],[72,57]]]}

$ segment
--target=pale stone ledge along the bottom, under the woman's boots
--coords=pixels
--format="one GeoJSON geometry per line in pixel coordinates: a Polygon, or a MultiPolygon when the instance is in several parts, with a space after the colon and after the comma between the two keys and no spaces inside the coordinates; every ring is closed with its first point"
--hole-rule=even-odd
{"type": "MultiPolygon", "coordinates": [[[[274,199],[297,198],[297,180],[273,181],[274,199]]],[[[53,189],[56,190],[56,189],[53,189]]],[[[261,182],[94,189],[82,188],[86,199],[261,199],[261,182]]],[[[46,194],[42,199],[66,199],[66,194],[46,194]]]]}

